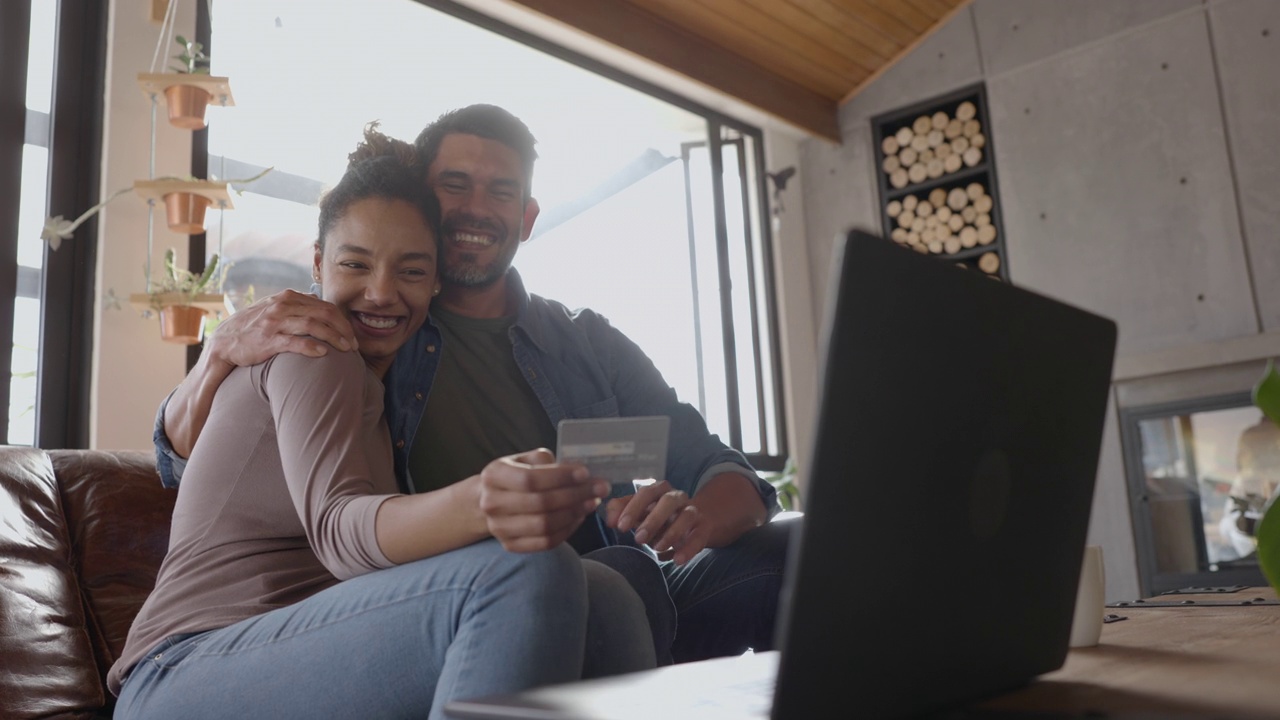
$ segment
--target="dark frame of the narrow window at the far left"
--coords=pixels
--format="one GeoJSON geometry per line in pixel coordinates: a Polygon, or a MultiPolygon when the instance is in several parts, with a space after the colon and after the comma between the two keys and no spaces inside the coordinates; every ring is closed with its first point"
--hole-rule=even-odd
{"type": "MultiPolygon", "coordinates": [[[[23,145],[49,149],[47,215],[74,218],[99,202],[106,68],[108,5],[97,0],[59,0],[50,113],[27,110],[27,53],[32,0],[4,3],[5,77],[0,79],[0,228],[13,238],[0,243],[0,337],[13,338],[14,299],[32,278],[17,261],[18,202],[23,145]]],[[[74,242],[56,251],[45,246],[40,282],[40,354],[35,446],[82,448],[90,442],[97,218],[74,242]]],[[[0,433],[9,439],[12,354],[0,352],[0,433]]]]}

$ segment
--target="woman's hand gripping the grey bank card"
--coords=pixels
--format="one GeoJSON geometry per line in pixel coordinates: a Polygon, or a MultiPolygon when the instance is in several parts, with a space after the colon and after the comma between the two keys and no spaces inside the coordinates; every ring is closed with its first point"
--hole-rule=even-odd
{"type": "Polygon", "coordinates": [[[609,484],[582,465],[561,465],[548,450],[499,457],[480,471],[480,511],[489,533],[512,552],[549,550],[595,511],[609,484]]]}

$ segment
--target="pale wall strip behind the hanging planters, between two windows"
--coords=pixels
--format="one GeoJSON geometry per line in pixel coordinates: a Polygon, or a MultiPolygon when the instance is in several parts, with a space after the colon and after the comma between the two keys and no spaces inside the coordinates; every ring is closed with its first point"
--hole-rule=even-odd
{"type": "MultiPolygon", "coordinates": [[[[113,0],[109,19],[106,110],[104,122],[102,188],[113,192],[148,177],[151,101],[137,83],[148,72],[157,23],[148,19],[150,0],[113,0]]],[[[195,32],[195,4],[178,3],[177,32],[195,32]]],[[[177,45],[165,40],[164,58],[177,45]]],[[[168,63],[164,63],[168,65],[168,63]]],[[[232,86],[234,92],[234,85],[232,86]]],[[[211,110],[233,111],[233,110],[211,110]]],[[[156,176],[191,172],[191,132],[170,127],[161,105],[156,120],[156,176]]],[[[186,264],[187,236],[169,232],[164,208],[156,211],[157,275],[166,247],[177,247],[186,264]]],[[[131,193],[102,210],[99,223],[97,304],[90,419],[90,445],[99,448],[151,448],[151,425],[160,400],[186,373],[186,346],[161,342],[160,324],[143,319],[128,296],[146,290],[147,205],[131,193]],[[109,293],[119,299],[116,307],[109,293]]]]}

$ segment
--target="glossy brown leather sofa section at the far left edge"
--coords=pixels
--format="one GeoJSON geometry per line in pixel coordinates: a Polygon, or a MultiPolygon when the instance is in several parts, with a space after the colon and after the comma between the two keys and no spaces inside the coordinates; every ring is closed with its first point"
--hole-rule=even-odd
{"type": "Polygon", "coordinates": [[[102,706],[72,556],[49,457],[0,448],[0,717],[90,717],[102,706]]]}

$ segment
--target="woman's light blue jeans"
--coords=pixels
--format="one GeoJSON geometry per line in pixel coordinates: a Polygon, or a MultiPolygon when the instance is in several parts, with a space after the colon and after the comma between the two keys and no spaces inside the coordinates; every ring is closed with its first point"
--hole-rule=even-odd
{"type": "Polygon", "coordinates": [[[444,717],[444,703],[577,679],[582,562],[489,539],[161,642],[115,716],[444,717]]]}

